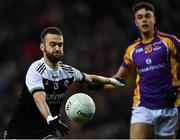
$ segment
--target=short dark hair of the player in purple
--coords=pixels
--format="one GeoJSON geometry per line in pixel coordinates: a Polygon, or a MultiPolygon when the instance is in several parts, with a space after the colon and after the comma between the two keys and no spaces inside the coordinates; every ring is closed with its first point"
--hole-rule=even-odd
{"type": "Polygon", "coordinates": [[[133,5],[133,7],[132,7],[133,15],[135,15],[135,13],[141,9],[145,9],[147,11],[152,11],[153,13],[155,13],[155,9],[152,4],[147,3],[147,2],[139,2],[139,3],[136,3],[135,5],[133,5]]]}

